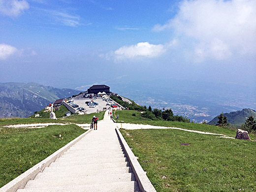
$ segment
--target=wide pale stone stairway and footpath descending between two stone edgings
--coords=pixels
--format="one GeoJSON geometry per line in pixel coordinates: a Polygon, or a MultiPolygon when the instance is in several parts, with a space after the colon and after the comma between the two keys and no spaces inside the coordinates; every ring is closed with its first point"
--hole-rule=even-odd
{"type": "Polygon", "coordinates": [[[93,130],[17,192],[138,192],[108,112],[93,130]]]}

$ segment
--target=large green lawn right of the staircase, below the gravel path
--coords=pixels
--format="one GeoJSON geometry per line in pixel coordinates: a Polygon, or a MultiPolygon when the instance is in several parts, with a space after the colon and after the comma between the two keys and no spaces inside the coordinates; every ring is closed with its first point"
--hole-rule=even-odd
{"type": "Polygon", "coordinates": [[[256,191],[256,142],[175,129],[121,132],[157,192],[256,191]]]}

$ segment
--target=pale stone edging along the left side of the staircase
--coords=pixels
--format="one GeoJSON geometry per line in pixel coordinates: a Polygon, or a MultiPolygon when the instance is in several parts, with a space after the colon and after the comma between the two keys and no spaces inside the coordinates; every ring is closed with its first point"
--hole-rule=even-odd
{"type": "Polygon", "coordinates": [[[64,147],[59,149],[58,151],[54,152],[52,155],[47,157],[46,159],[42,160],[41,162],[37,163],[33,167],[31,167],[29,170],[25,171],[6,185],[0,188],[0,192],[16,192],[18,189],[23,189],[25,185],[28,183],[28,181],[33,180],[35,176],[42,172],[45,167],[50,166],[52,162],[54,162],[56,159],[61,157],[64,152],[66,152],[72,145],[74,145],[77,141],[79,141],[81,138],[83,138],[85,135],[91,132],[93,129],[87,130],[85,133],[81,134],[74,140],[67,143],[64,147]]]}

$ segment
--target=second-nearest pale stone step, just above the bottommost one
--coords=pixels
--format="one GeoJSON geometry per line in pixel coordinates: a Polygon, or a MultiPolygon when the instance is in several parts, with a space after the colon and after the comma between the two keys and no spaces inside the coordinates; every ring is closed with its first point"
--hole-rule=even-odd
{"type": "Polygon", "coordinates": [[[25,189],[30,188],[43,188],[45,186],[58,187],[58,186],[71,186],[71,185],[89,185],[89,184],[107,184],[116,182],[135,181],[135,175],[133,173],[122,174],[102,174],[96,176],[80,175],[79,177],[67,177],[62,175],[57,177],[56,175],[42,175],[36,177],[35,180],[30,180],[25,189]]]}

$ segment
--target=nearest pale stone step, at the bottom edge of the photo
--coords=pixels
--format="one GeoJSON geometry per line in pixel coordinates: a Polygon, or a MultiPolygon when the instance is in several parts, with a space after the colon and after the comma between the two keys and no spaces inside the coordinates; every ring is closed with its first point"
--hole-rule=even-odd
{"type": "Polygon", "coordinates": [[[20,189],[17,192],[139,192],[136,181],[104,183],[103,185],[71,185],[60,187],[49,187],[35,189],[20,189]]]}

